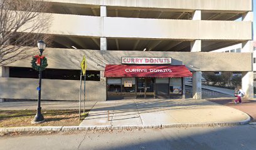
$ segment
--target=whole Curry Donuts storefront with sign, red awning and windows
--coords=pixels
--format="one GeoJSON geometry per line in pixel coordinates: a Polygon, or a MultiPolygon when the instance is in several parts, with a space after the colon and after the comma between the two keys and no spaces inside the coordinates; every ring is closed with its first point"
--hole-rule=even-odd
{"type": "Polygon", "coordinates": [[[123,57],[122,64],[107,64],[107,100],[174,99],[184,96],[184,65],[171,65],[171,58],[123,57]]]}

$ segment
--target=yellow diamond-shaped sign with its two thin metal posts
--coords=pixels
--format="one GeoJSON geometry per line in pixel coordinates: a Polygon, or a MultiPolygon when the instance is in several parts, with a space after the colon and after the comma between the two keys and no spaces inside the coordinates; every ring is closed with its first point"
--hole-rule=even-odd
{"type": "MultiPolygon", "coordinates": [[[[81,66],[81,73],[80,73],[79,120],[80,120],[80,114],[81,114],[82,76],[84,76],[84,79],[85,79],[86,69],[87,69],[87,63],[86,63],[85,56],[83,56],[80,66],[81,66]]],[[[84,81],[84,88],[83,88],[83,113],[85,113],[85,81],[84,81]]]]}

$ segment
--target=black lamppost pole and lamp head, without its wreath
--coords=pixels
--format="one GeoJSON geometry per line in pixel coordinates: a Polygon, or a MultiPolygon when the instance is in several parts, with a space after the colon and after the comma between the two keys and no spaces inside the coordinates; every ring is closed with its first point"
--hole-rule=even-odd
{"type": "MultiPolygon", "coordinates": [[[[43,51],[45,50],[46,44],[42,40],[38,41],[38,49],[40,51],[40,67],[42,65],[41,61],[41,56],[43,56],[43,51]]],[[[34,123],[43,123],[45,121],[45,118],[43,118],[43,114],[41,114],[41,79],[42,79],[42,74],[41,74],[41,69],[39,70],[39,86],[37,88],[38,90],[38,108],[36,112],[36,116],[34,119],[34,123]]]]}

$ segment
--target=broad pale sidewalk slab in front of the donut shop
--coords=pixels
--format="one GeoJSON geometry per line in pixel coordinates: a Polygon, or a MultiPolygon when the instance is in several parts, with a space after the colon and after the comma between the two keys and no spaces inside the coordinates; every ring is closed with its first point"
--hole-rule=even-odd
{"type": "Polygon", "coordinates": [[[250,117],[246,113],[206,100],[146,99],[98,102],[80,126],[200,125],[248,121],[250,117]]]}

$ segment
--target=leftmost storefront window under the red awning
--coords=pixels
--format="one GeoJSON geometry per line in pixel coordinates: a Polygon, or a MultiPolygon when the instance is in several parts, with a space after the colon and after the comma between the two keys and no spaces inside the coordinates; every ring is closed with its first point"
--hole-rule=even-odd
{"type": "Polygon", "coordinates": [[[121,94],[121,79],[107,79],[108,95],[121,94]]]}

